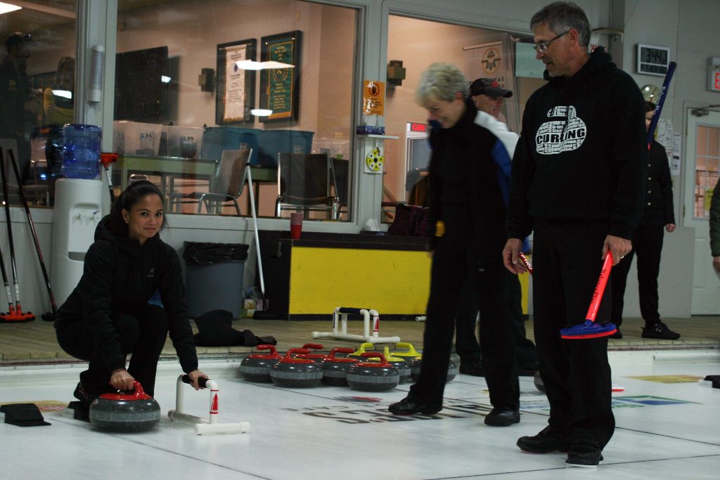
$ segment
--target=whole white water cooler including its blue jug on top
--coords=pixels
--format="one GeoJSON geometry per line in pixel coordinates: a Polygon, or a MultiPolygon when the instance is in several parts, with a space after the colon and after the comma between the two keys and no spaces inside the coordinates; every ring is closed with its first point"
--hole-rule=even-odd
{"type": "Polygon", "coordinates": [[[102,130],[96,125],[63,127],[63,174],[55,181],[53,286],[55,302],[63,304],[83,275],[85,253],[102,219],[99,175],[102,130]]]}

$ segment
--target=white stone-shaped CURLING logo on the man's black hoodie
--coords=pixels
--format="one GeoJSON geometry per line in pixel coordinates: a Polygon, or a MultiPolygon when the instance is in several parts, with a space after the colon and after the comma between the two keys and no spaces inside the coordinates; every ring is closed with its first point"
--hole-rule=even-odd
{"type": "Polygon", "coordinates": [[[554,107],[549,109],[549,118],[562,117],[562,120],[550,120],[541,124],[535,134],[535,149],[540,155],[577,150],[585,140],[588,129],[585,122],[576,116],[575,107],[554,107]]]}

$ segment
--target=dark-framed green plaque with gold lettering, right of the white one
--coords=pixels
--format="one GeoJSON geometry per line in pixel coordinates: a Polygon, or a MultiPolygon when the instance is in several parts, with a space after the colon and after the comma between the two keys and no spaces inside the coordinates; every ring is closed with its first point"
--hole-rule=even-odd
{"type": "Polygon", "coordinates": [[[272,110],[261,122],[297,120],[300,105],[300,47],[302,32],[262,37],[261,60],[294,65],[293,68],[263,68],[260,72],[260,108],[272,110]]]}

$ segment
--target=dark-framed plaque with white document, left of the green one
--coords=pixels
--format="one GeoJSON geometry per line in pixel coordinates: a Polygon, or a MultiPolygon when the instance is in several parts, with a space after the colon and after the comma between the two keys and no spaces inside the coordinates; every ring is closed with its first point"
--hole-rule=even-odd
{"type": "Polygon", "coordinates": [[[255,71],[238,67],[236,62],[255,60],[254,38],[217,45],[217,86],[215,123],[253,122],[250,110],[255,108],[255,71]]]}

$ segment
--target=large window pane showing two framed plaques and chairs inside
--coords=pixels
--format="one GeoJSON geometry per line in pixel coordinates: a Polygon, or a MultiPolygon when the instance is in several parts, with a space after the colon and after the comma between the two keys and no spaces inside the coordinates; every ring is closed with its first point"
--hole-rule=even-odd
{"type": "Polygon", "coordinates": [[[280,214],[328,219],[342,196],[341,219],[349,219],[356,11],[297,0],[140,5],[119,1],[114,148],[122,157],[114,184],[148,176],[168,211],[195,213],[210,191],[217,195],[205,197],[202,213],[235,215],[233,202],[220,200],[237,197],[247,215],[247,186],[239,191],[243,182],[220,175],[234,171],[224,151],[251,148],[258,214],[274,217],[279,154],[326,153],[326,198],[284,198],[302,205],[280,214]]]}

